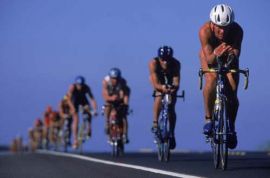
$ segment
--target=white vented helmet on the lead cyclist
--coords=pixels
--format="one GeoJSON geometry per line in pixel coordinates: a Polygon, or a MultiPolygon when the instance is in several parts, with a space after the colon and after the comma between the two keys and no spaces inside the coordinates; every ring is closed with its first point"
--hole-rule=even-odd
{"type": "Polygon", "coordinates": [[[234,22],[234,13],[226,4],[215,5],[210,12],[210,20],[216,25],[227,26],[234,22]]]}

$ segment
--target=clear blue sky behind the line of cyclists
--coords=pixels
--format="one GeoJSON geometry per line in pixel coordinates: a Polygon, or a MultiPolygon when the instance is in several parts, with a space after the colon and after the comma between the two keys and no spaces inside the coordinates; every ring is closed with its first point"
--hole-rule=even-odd
{"type": "MultiPolygon", "coordinates": [[[[101,81],[119,67],[132,89],[128,150],[154,149],[152,88],[148,62],[162,44],[171,45],[182,63],[177,104],[177,149],[209,150],[202,136],[203,103],[198,85],[198,30],[210,9],[227,3],[244,29],[241,67],[250,68],[250,87],[240,83],[238,149],[256,150],[270,141],[270,1],[180,0],[1,0],[0,144],[27,129],[47,105],[57,107],[78,74],[84,75],[103,104],[101,81]]],[[[109,150],[104,118],[93,120],[89,150],[109,150]]]]}

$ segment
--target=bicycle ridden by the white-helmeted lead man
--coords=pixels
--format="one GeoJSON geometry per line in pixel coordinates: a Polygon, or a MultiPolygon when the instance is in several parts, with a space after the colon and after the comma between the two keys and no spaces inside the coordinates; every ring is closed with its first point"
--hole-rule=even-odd
{"type": "Polygon", "coordinates": [[[208,69],[203,71],[200,69],[200,89],[202,89],[202,76],[205,73],[216,73],[217,74],[217,82],[216,82],[216,99],[213,108],[213,132],[210,138],[207,138],[207,141],[210,139],[212,151],[213,151],[213,159],[214,159],[214,167],[217,169],[219,164],[221,163],[221,168],[225,170],[227,168],[228,162],[228,135],[233,134],[230,130],[230,120],[227,115],[227,96],[225,95],[225,76],[227,73],[242,73],[245,76],[245,89],[248,87],[248,76],[249,70],[239,70],[239,69],[229,69],[226,66],[223,66],[219,59],[218,67],[214,69],[208,69]]]}

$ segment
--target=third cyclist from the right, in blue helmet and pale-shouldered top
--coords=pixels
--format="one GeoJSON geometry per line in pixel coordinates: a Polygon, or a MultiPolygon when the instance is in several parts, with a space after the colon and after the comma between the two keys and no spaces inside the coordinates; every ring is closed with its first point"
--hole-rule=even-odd
{"type": "Polygon", "coordinates": [[[122,77],[121,70],[112,68],[109,74],[102,81],[102,95],[105,100],[105,131],[109,135],[109,116],[113,103],[121,104],[121,113],[118,113],[123,119],[123,141],[129,142],[128,139],[128,121],[127,114],[129,108],[130,88],[127,81],[122,77]]]}

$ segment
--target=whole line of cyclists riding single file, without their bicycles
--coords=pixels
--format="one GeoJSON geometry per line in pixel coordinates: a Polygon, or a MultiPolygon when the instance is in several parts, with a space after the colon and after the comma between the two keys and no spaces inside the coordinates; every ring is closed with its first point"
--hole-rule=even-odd
{"type": "MultiPolygon", "coordinates": [[[[217,66],[216,59],[219,58],[225,64],[228,56],[233,56],[230,67],[238,69],[243,30],[234,20],[232,8],[225,4],[218,4],[210,11],[210,20],[199,29],[199,39],[201,49],[199,59],[203,70],[217,66]]],[[[173,56],[173,49],[170,46],[161,46],[157,50],[157,56],[149,61],[150,84],[155,95],[153,102],[153,125],[152,133],[155,135],[158,130],[158,118],[161,111],[162,94],[170,93],[177,95],[180,86],[181,63],[173,56]],[[167,85],[171,87],[168,88],[167,85]]],[[[103,115],[105,118],[105,134],[108,135],[108,142],[112,140],[110,129],[110,119],[117,116],[121,120],[121,137],[124,143],[129,142],[128,137],[128,113],[131,89],[128,82],[123,77],[119,68],[111,68],[102,81],[102,96],[104,99],[103,115]],[[117,109],[115,109],[117,106],[117,109]]],[[[231,120],[230,130],[232,135],[229,139],[229,148],[237,146],[237,136],[235,131],[235,120],[238,111],[239,101],[237,98],[237,88],[239,74],[227,74],[228,88],[227,98],[229,99],[228,117],[231,120]]],[[[205,86],[203,89],[205,125],[203,133],[211,134],[213,129],[212,111],[215,101],[216,74],[205,74],[205,86]]],[[[175,138],[175,103],[176,97],[172,98],[169,106],[170,122],[170,149],[176,147],[175,138]]],[[[40,118],[35,119],[33,127],[28,130],[29,149],[37,148],[50,149],[52,145],[59,142],[59,135],[66,136],[65,143],[74,149],[79,146],[79,130],[82,120],[86,121],[85,137],[92,136],[91,121],[98,114],[97,102],[90,86],[87,85],[85,76],[77,76],[63,93],[58,108],[47,106],[40,118]]]]}

